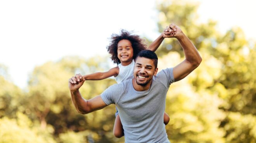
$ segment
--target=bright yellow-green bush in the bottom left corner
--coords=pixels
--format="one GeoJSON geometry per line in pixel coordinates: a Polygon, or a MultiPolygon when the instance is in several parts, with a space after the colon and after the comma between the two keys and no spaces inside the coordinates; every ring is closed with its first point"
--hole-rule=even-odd
{"type": "Polygon", "coordinates": [[[17,112],[17,118],[0,118],[0,143],[55,143],[52,127],[42,130],[26,115],[17,112]]]}

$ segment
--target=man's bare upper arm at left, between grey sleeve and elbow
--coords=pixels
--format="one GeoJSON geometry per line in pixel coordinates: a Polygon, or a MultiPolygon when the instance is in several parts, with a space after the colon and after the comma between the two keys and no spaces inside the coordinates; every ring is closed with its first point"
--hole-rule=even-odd
{"type": "Polygon", "coordinates": [[[90,100],[87,100],[88,107],[90,112],[102,109],[107,106],[107,104],[102,100],[100,96],[96,96],[90,100]]]}

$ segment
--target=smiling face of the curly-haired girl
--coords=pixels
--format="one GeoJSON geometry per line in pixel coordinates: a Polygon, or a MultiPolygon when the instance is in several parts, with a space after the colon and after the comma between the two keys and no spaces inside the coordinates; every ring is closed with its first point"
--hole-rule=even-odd
{"type": "Polygon", "coordinates": [[[129,40],[120,40],[118,42],[118,59],[123,66],[127,66],[133,59],[133,48],[129,40]]]}

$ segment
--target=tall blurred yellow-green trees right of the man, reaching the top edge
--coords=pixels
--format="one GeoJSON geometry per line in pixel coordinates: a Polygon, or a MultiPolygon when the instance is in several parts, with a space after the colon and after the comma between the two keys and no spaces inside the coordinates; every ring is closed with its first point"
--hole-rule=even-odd
{"type": "MultiPolygon", "coordinates": [[[[157,5],[159,32],[171,22],[177,24],[199,49],[203,59],[198,69],[182,81],[187,79],[189,89],[173,93],[171,89],[178,89],[174,87],[176,83],[170,89],[166,111],[173,122],[166,127],[168,136],[173,142],[255,142],[255,44],[247,41],[237,27],[223,35],[213,20],[199,24],[197,7],[197,3],[183,0],[163,0],[157,5]],[[184,109],[187,104],[192,106],[189,110],[184,109]],[[196,126],[192,128],[193,125],[198,126],[197,130],[196,126]]],[[[157,53],[163,56],[172,51],[178,56],[169,56],[176,56],[169,62],[184,59],[175,39],[165,39],[157,53]]]]}

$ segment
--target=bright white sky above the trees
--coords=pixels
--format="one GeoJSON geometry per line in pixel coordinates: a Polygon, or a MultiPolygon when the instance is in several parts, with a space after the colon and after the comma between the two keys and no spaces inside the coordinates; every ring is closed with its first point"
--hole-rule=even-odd
{"type": "MultiPolygon", "coordinates": [[[[201,21],[218,20],[222,31],[232,26],[254,38],[254,0],[200,0],[201,21]]],[[[0,1],[0,64],[12,82],[24,88],[35,66],[64,56],[106,55],[112,33],[120,29],[154,40],[155,0],[2,0],[0,1]]]]}

